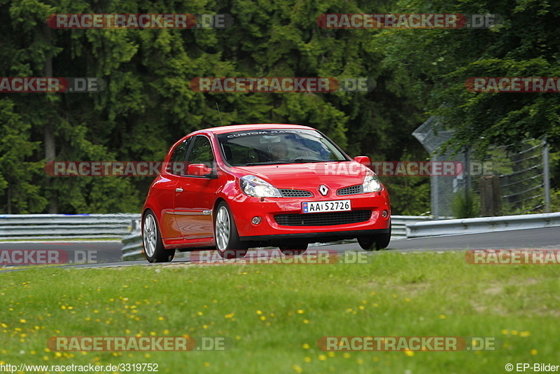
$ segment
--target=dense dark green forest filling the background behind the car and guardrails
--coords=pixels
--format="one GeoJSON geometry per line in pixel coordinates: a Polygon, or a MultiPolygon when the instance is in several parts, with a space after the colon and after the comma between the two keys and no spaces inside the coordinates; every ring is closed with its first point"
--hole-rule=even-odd
{"type": "MultiPolygon", "coordinates": [[[[560,141],[559,93],[473,93],[471,76],[560,76],[560,3],[544,0],[0,0],[5,77],[99,77],[93,93],[0,93],[0,213],[139,212],[153,177],[48,176],[52,160],[162,160],[193,130],[316,127],[351,156],[428,160],[432,115],[451,148],[560,141]],[[228,13],[227,29],[52,29],[52,13],[228,13]],[[325,29],[323,13],[498,13],[484,29],[325,29]],[[370,92],[204,93],[205,76],[367,77],[370,92]],[[221,111],[218,114],[216,103],[221,111]],[[446,105],[442,105],[446,104],[446,105]]],[[[552,186],[560,168],[552,165],[552,186]]],[[[430,210],[428,177],[385,177],[393,214],[430,210]]]]}

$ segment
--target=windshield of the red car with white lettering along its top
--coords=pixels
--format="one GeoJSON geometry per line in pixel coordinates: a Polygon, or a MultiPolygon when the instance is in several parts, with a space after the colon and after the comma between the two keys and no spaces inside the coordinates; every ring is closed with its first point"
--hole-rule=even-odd
{"type": "Polygon", "coordinates": [[[314,130],[251,130],[219,134],[232,166],[347,161],[337,146],[314,130]]]}

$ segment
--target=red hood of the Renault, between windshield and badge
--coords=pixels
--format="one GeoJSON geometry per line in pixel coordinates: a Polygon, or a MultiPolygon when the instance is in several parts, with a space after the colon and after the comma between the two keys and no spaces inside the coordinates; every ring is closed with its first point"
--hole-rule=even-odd
{"type": "Polygon", "coordinates": [[[367,168],[356,161],[233,167],[238,177],[255,175],[276,188],[309,190],[320,184],[341,188],[363,183],[367,168]]]}

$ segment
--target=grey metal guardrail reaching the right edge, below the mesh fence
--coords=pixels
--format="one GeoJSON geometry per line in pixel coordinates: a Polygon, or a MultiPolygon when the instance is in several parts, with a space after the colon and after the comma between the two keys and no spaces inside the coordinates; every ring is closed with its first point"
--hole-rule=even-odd
{"type": "Polygon", "coordinates": [[[446,219],[407,224],[407,237],[492,233],[560,226],[560,213],[521,214],[517,216],[446,219]]]}

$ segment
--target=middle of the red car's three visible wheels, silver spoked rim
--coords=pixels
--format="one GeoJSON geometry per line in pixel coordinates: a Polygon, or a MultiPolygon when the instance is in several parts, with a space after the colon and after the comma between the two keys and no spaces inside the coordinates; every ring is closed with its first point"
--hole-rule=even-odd
{"type": "Polygon", "coordinates": [[[230,207],[223,201],[216,207],[214,215],[214,240],[216,251],[222,258],[242,258],[247,253],[247,244],[239,240],[230,207]]]}

